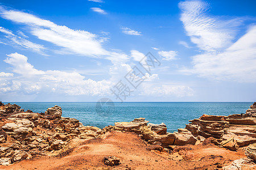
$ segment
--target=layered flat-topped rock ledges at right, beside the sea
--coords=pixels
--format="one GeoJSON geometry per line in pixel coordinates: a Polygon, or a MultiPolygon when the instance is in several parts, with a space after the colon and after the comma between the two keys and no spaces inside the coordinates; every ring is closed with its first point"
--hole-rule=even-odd
{"type": "MultiPolygon", "coordinates": [[[[214,137],[226,141],[230,138],[239,147],[256,142],[256,103],[250,106],[245,114],[231,114],[229,116],[211,116],[204,114],[200,118],[190,120],[186,129],[195,137],[214,137]]],[[[234,149],[234,148],[233,148],[234,149]]]]}

